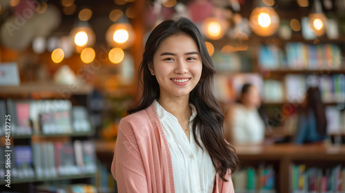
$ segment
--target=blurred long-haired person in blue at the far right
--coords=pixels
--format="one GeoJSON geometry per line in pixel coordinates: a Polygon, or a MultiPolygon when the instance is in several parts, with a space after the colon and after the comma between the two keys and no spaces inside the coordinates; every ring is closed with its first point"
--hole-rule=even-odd
{"type": "Polygon", "coordinates": [[[313,143],[326,139],[327,119],[319,88],[308,88],[299,110],[295,143],[313,143]]]}

